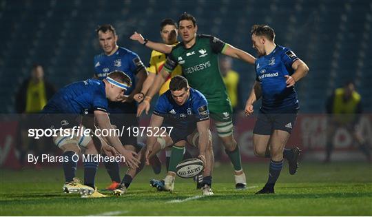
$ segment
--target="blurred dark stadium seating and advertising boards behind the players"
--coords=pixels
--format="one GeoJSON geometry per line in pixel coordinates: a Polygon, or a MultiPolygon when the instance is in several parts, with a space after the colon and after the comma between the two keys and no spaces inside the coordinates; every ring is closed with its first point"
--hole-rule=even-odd
{"type": "MultiPolygon", "coordinates": [[[[301,108],[289,146],[302,147],[304,160],[327,161],[327,143],[332,141],[335,159],[364,161],[372,142],[372,1],[0,0],[1,165],[12,165],[7,163],[9,159],[19,156],[17,147],[23,142],[17,141],[20,134],[14,116],[22,113],[19,103],[25,95],[24,82],[32,74],[38,76],[37,70],[32,70],[35,63],[42,66],[50,93],[92,77],[93,57],[102,52],[94,30],[97,25],[111,23],[118,45],[136,52],[147,65],[151,50],[131,41],[130,35],[137,31],[147,39],[161,41],[161,20],[177,20],[182,12],[196,17],[199,34],[212,34],[254,55],[251,25],[270,25],[276,31],[276,43],[291,48],[310,68],[308,76],[296,84],[301,108]],[[358,123],[338,125],[340,129],[330,138],[327,99],[348,81],[353,81],[353,91],[360,95],[364,114],[357,117],[358,123]]],[[[251,149],[254,118],[240,114],[256,74],[254,67],[242,61],[230,64],[238,73],[238,83],[231,84],[236,87],[229,93],[237,99],[236,137],[243,147],[243,159],[256,161],[251,149]]],[[[256,103],[256,109],[259,105],[256,103]]],[[[224,153],[217,157],[223,161],[224,153]]]]}

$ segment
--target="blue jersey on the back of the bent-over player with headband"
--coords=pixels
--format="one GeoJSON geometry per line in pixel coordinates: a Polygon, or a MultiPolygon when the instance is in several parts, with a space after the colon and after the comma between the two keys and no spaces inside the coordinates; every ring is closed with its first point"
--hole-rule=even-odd
{"type": "Polygon", "coordinates": [[[86,114],[94,110],[107,112],[105,83],[96,79],[87,79],[61,88],[48,101],[42,113],[86,114]]]}

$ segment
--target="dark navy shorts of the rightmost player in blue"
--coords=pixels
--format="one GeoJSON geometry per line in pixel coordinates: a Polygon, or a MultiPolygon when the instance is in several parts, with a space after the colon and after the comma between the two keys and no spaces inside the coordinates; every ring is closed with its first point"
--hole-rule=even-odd
{"type": "Polygon", "coordinates": [[[291,134],[297,118],[297,110],[285,113],[263,113],[260,111],[254,126],[254,134],[271,135],[274,130],[283,130],[291,134]]]}

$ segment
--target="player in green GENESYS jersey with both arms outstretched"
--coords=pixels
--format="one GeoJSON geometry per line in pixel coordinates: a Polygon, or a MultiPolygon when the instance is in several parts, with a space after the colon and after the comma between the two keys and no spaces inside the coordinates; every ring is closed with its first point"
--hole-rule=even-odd
{"type": "Polygon", "coordinates": [[[239,146],[233,134],[231,102],[218,68],[218,54],[222,53],[241,59],[252,65],[256,59],[251,54],[234,48],[216,37],[196,34],[198,30],[196,19],[186,12],[178,19],[178,26],[178,34],[183,41],[174,47],[144,39],[137,32],[131,37],[132,40],[138,41],[152,50],[168,54],[167,61],[156,76],[152,87],[149,89],[143,87],[143,90],[149,91],[136,96],[143,98],[143,102],[138,106],[137,116],[140,116],[144,110],[146,114],[148,113],[152,97],[158,92],[169,74],[177,65],[180,65],[183,76],[189,81],[190,86],[205,95],[218,136],[223,141],[226,154],[234,165],[236,189],[245,189],[247,182],[242,170],[239,146]]]}

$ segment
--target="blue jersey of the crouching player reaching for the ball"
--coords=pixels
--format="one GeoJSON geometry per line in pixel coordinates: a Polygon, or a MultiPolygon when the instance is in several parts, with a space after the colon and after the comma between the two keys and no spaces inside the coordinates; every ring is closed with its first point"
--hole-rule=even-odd
{"type": "Polygon", "coordinates": [[[198,90],[190,88],[189,99],[183,105],[177,105],[170,90],[159,96],[154,114],[163,116],[165,123],[174,127],[187,128],[198,121],[209,119],[208,103],[198,90]]]}

